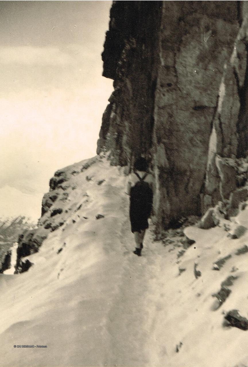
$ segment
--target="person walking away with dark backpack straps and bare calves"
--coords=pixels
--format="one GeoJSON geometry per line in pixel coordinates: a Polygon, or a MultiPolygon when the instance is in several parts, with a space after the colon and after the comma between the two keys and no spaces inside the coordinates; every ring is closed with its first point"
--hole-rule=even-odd
{"type": "Polygon", "coordinates": [[[133,172],[127,177],[126,193],[130,195],[129,216],[136,243],[133,253],[138,256],[141,256],[145,230],[148,228],[148,218],[152,210],[154,179],[147,171],[148,162],[140,157],[134,163],[133,172]]]}

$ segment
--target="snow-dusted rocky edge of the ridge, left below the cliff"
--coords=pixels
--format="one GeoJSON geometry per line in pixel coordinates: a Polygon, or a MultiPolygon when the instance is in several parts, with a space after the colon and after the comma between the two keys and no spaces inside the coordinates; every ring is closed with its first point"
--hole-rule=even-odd
{"type": "MultiPolygon", "coordinates": [[[[100,160],[100,157],[93,157],[55,172],[54,177],[50,179],[50,190],[43,196],[42,216],[38,221],[37,228],[25,230],[22,235],[19,236],[17,263],[15,265],[16,273],[22,273],[28,270],[30,266],[32,266],[32,262],[26,259],[26,257],[38,252],[49,233],[61,228],[73,213],[79,211],[83,206],[84,200],[85,202],[88,201],[87,193],[85,193],[82,195],[83,201],[80,205],[74,202],[75,199],[72,200],[70,204],[70,195],[73,195],[74,190],[76,192],[76,189],[78,189],[75,183],[76,176],[82,174],[100,160]],[[62,207],[68,208],[62,209],[62,207]]],[[[84,175],[86,175],[86,173],[87,172],[85,172],[84,175]]],[[[88,176],[85,177],[86,180],[87,177],[88,176]]],[[[101,185],[104,181],[104,179],[98,181],[97,185],[101,185]]],[[[76,218],[79,218],[78,214],[75,215],[76,218]]],[[[83,218],[87,219],[86,217],[83,218]]],[[[71,219],[71,222],[75,223],[75,219],[71,219]]]]}

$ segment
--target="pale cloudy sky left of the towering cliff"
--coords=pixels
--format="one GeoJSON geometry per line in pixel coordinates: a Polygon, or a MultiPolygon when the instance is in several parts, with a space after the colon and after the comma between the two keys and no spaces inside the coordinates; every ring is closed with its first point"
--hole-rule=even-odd
{"type": "Polygon", "coordinates": [[[111,4],[0,1],[0,210],[1,189],[41,195],[57,169],[96,155],[111,4]]]}

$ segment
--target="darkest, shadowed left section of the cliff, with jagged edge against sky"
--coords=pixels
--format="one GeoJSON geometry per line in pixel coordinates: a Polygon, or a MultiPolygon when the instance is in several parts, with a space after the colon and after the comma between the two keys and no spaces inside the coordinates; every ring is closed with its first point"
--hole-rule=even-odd
{"type": "Polygon", "coordinates": [[[152,148],[162,2],[114,1],[104,45],[103,75],[114,79],[97,153],[130,164],[152,148]]]}

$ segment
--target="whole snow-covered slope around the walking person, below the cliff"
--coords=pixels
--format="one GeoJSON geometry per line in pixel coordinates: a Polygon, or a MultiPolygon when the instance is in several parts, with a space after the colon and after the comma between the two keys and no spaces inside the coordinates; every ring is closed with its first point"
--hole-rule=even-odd
{"type": "MultiPolygon", "coordinates": [[[[0,276],[0,366],[247,366],[248,331],[223,321],[233,309],[248,316],[248,252],[236,255],[248,233],[188,227],[196,242],[178,257],[182,247],[153,242],[148,231],[137,257],[124,168],[95,157],[65,170],[69,196],[59,189],[42,217],[62,208],[53,218],[65,224],[28,257],[28,272],[0,276]],[[213,294],[229,276],[220,305],[213,294]]],[[[247,227],[247,214],[248,206],[232,224],[247,227]]]]}

